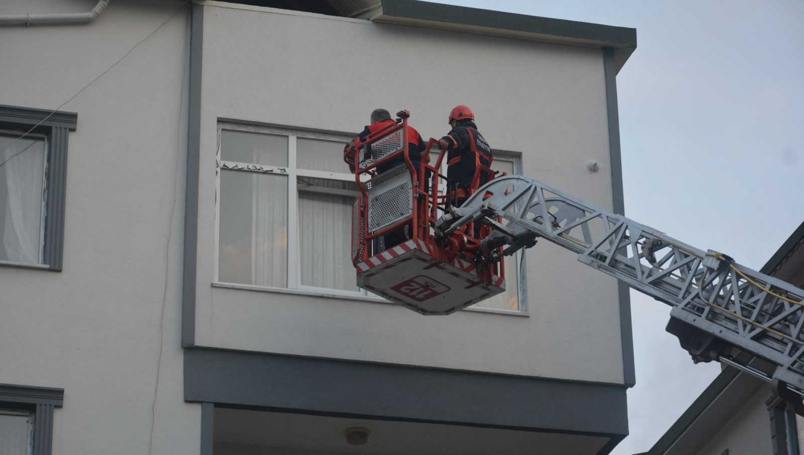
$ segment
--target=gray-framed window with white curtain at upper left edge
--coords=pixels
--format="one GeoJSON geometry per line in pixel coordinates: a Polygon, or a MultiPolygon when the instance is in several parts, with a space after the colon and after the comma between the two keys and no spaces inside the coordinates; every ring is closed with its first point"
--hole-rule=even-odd
{"type": "Polygon", "coordinates": [[[76,119],[0,105],[0,264],[61,270],[67,142],[76,119]]]}

